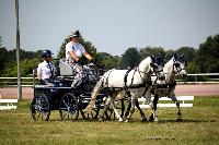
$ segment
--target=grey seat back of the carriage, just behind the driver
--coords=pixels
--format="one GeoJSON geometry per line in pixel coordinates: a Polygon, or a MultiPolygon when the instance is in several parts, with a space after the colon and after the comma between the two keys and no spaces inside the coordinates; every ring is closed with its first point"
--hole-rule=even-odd
{"type": "Polygon", "coordinates": [[[74,75],[73,69],[66,62],[66,59],[59,60],[59,71],[61,76],[74,75]]]}

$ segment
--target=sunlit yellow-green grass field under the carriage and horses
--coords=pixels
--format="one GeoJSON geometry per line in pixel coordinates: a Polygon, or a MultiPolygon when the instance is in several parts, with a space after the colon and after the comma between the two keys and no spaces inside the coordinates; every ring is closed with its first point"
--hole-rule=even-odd
{"type": "Polygon", "coordinates": [[[58,111],[51,112],[50,121],[35,122],[28,105],[22,100],[16,110],[0,111],[1,145],[219,144],[219,96],[195,97],[193,108],[182,108],[181,123],[175,121],[176,108],[159,108],[160,122],[141,122],[137,110],[129,123],[60,121],[58,111]]]}

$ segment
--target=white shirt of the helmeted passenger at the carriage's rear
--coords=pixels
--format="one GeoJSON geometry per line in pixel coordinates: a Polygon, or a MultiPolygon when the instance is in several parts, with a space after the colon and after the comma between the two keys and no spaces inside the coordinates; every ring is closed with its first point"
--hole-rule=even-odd
{"type": "Polygon", "coordinates": [[[42,80],[51,77],[51,71],[49,69],[49,65],[50,65],[53,73],[55,74],[55,67],[54,67],[53,62],[47,63],[44,60],[42,63],[38,64],[37,75],[39,75],[42,77],[42,80]]]}

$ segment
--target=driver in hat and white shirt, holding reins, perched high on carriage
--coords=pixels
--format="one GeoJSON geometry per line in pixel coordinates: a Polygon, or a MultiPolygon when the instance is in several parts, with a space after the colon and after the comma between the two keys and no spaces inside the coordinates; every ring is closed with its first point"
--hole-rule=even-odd
{"type": "Polygon", "coordinates": [[[80,32],[73,31],[70,35],[70,41],[66,45],[66,61],[77,73],[71,86],[79,84],[79,81],[82,78],[81,57],[84,56],[88,60],[92,60],[90,53],[88,53],[84,47],[79,43],[80,37],[80,32]]]}

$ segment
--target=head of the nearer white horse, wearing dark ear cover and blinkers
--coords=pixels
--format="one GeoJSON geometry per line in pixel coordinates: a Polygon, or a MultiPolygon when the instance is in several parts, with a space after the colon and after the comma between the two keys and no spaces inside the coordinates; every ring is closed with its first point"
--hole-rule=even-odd
{"type": "Polygon", "coordinates": [[[152,72],[157,75],[160,81],[165,80],[165,75],[163,72],[164,61],[162,57],[153,57],[151,56],[151,63],[150,63],[152,72]]]}

